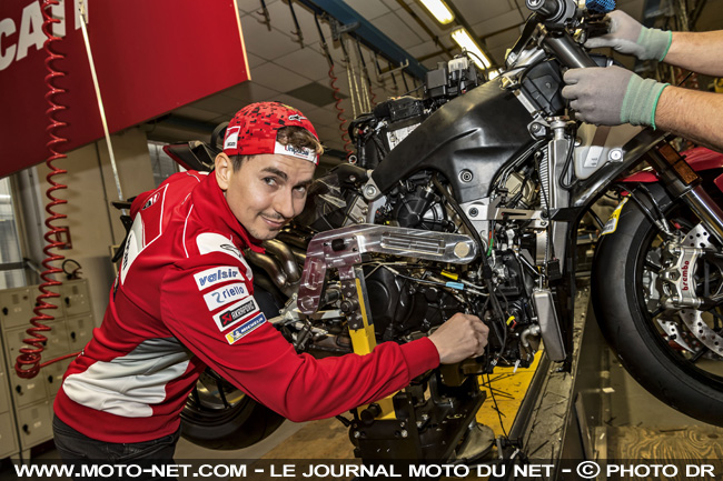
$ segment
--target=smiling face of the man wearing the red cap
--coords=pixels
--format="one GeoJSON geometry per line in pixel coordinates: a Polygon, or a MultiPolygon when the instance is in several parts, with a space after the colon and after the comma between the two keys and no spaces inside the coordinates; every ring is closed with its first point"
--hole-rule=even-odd
{"type": "Polygon", "coordinates": [[[259,240],[274,239],[301,213],[315,169],[308,160],[264,153],[246,160],[235,171],[226,154],[216,158],[216,179],[228,207],[248,233],[259,240]]]}

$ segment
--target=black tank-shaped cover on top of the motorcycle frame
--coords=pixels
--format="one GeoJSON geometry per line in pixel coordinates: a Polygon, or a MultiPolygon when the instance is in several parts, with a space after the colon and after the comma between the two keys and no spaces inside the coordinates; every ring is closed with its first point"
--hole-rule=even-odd
{"type": "Polygon", "coordinates": [[[532,143],[532,117],[499,80],[457,97],[434,112],[397,146],[372,177],[382,192],[399,179],[432,169],[452,183],[459,203],[487,194],[495,172],[532,143]],[[460,180],[468,170],[472,179],[460,180]]]}

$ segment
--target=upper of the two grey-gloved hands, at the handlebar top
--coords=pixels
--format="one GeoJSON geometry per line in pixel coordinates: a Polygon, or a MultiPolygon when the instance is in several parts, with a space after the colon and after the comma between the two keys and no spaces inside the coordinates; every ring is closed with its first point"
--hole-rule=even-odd
{"type": "Polygon", "coordinates": [[[617,52],[635,56],[641,60],[662,61],[665,58],[673,42],[673,32],[643,27],[622,10],[612,11],[607,17],[610,33],[587,40],[585,47],[611,47],[617,52]]]}

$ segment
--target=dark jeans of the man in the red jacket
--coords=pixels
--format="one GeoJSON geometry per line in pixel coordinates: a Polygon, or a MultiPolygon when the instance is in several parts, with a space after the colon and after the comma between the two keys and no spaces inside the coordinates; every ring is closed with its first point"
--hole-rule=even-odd
{"type": "MultiPolygon", "coordinates": [[[[174,463],[176,443],[180,438],[180,429],[174,434],[143,442],[121,443],[103,442],[89,438],[76,431],[58,417],[52,419],[52,432],[56,448],[66,464],[138,464],[149,468],[174,463]]],[[[82,478],[78,478],[82,479],[82,478]]],[[[118,477],[117,479],[123,479],[118,477]]],[[[175,479],[157,478],[150,473],[133,478],[138,480],[175,479]]]]}

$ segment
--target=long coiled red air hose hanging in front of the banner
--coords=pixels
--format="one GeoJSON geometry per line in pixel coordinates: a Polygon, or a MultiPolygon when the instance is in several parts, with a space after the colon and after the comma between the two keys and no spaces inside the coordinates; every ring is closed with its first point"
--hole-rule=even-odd
{"type": "Polygon", "coordinates": [[[46,196],[48,197],[50,202],[46,206],[46,211],[48,212],[49,217],[46,219],[46,227],[48,228],[48,232],[46,232],[44,234],[47,244],[43,248],[43,252],[48,257],[42,261],[42,265],[46,268],[46,270],[40,274],[40,278],[43,280],[43,282],[38,287],[38,289],[40,290],[40,294],[36,299],[36,308],[33,309],[36,315],[32,319],[30,319],[30,323],[32,324],[32,327],[26,331],[31,338],[23,339],[23,342],[28,345],[31,345],[32,348],[20,348],[20,354],[16,360],[16,365],[14,365],[16,372],[18,377],[23,379],[34,378],[41,368],[51,364],[53,362],[58,362],[62,359],[77,355],[77,353],[67,354],[61,358],[44,362],[42,364],[40,363],[41,352],[43,350],[43,343],[48,340],[48,338],[46,338],[42,334],[42,332],[50,331],[50,328],[42,324],[41,322],[52,321],[55,319],[52,315],[47,314],[43,311],[58,309],[57,305],[48,303],[47,300],[53,298],[60,298],[59,293],[50,291],[48,290],[48,288],[62,284],[62,282],[56,281],[52,278],[52,275],[55,274],[62,273],[62,269],[53,267],[51,263],[65,259],[65,257],[52,252],[52,250],[61,248],[65,244],[59,240],[60,238],[58,236],[60,232],[63,231],[63,229],[53,226],[53,223],[58,220],[66,219],[67,216],[57,213],[53,210],[53,208],[56,206],[68,203],[67,200],[59,199],[53,196],[55,191],[68,188],[67,186],[56,182],[53,180],[53,177],[65,174],[68,171],[63,169],[59,169],[52,164],[52,162],[55,162],[56,160],[65,159],[67,157],[58,152],[57,149],[60,144],[68,141],[68,139],[65,139],[56,134],[56,131],[58,129],[61,129],[62,127],[66,126],[66,122],[56,119],[56,113],[66,110],[67,107],[58,104],[53,101],[55,96],[57,96],[58,93],[65,93],[63,89],[56,87],[55,80],[57,78],[62,78],[66,76],[63,72],[55,70],[52,67],[52,63],[56,60],[62,60],[65,58],[65,56],[57,53],[52,48],[53,42],[60,40],[59,37],[52,34],[51,31],[52,24],[58,23],[60,20],[53,19],[49,11],[53,6],[58,6],[59,3],[60,3],[59,0],[44,0],[42,2],[42,17],[43,17],[42,31],[47,37],[43,43],[43,49],[46,50],[47,53],[46,68],[48,69],[49,72],[44,79],[46,84],[48,86],[46,100],[50,104],[50,108],[46,110],[46,113],[49,119],[49,126],[46,128],[46,131],[50,136],[50,141],[48,141],[47,143],[48,150],[50,151],[50,157],[48,157],[48,159],[46,160],[46,166],[48,166],[48,168],[50,169],[50,173],[48,173],[48,176],[46,177],[48,183],[50,183],[50,188],[48,188],[46,196]]]}

